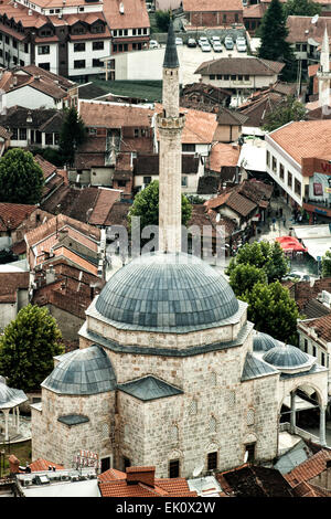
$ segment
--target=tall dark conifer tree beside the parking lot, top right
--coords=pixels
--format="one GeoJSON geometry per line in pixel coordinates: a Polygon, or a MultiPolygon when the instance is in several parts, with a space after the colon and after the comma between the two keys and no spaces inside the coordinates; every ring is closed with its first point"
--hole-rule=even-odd
{"type": "Polygon", "coordinates": [[[279,0],[271,0],[261,20],[259,34],[261,44],[258,50],[258,56],[264,60],[285,63],[281,78],[284,81],[296,81],[296,57],[291,45],[286,41],[288,36],[286,14],[279,0]]]}

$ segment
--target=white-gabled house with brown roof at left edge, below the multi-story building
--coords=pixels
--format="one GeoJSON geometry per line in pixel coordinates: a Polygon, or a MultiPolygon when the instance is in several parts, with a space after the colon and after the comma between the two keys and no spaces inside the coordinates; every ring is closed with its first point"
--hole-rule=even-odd
{"type": "Polygon", "coordinates": [[[74,83],[35,65],[0,72],[0,108],[64,108],[74,83]]]}

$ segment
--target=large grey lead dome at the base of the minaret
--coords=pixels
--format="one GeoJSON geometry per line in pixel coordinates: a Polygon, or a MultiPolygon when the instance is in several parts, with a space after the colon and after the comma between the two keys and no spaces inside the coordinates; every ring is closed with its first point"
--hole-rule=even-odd
{"type": "Polygon", "coordinates": [[[154,253],[114,274],[96,309],[127,325],[180,329],[226,319],[238,301],[226,279],[196,256],[154,253]]]}

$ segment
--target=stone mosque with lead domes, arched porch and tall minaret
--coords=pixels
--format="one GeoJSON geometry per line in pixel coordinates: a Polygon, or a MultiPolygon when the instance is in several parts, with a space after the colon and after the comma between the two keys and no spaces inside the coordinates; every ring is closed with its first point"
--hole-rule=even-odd
{"type": "Polygon", "coordinates": [[[156,466],[192,477],[277,456],[280,409],[310,388],[325,444],[328,370],[254,330],[247,304],[200,258],[181,252],[179,62],[172,24],[163,63],[159,252],[117,271],[86,310],[79,349],[56,357],[32,407],[32,458],[102,470],[156,466]],[[171,233],[167,229],[172,229],[171,233]]]}

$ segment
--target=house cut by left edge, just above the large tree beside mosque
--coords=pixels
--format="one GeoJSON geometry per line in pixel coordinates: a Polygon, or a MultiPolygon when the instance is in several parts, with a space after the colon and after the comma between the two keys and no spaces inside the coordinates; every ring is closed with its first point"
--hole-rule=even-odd
{"type": "Polygon", "coordinates": [[[0,273],[0,330],[29,304],[29,272],[0,273]]]}

